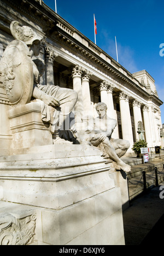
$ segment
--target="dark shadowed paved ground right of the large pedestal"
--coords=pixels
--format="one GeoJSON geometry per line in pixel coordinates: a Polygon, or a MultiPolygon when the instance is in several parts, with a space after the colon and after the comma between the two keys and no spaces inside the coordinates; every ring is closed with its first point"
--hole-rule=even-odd
{"type": "Polygon", "coordinates": [[[126,245],[163,244],[164,199],[160,199],[161,185],[164,183],[131,201],[130,207],[123,212],[126,245]]]}

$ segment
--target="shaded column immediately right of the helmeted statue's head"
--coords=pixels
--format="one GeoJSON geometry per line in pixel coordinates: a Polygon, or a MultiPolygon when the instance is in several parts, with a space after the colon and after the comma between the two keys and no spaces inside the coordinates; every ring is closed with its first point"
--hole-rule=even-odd
{"type": "Polygon", "coordinates": [[[54,85],[54,61],[58,54],[45,48],[45,84],[54,85]]]}

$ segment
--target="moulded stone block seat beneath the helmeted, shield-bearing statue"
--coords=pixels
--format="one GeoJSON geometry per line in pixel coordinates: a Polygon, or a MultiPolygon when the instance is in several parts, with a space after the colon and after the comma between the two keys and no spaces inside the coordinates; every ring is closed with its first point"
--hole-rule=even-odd
{"type": "Polygon", "coordinates": [[[40,102],[31,102],[9,110],[13,149],[52,144],[48,125],[42,121],[40,102]]]}

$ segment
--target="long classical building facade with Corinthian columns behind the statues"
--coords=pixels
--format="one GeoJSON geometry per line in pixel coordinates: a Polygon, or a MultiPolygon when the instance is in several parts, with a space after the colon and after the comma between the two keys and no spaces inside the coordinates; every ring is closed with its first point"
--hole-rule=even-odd
{"type": "MultiPolygon", "coordinates": [[[[31,26],[42,37],[39,57],[45,61],[42,84],[59,85],[78,92],[75,122],[96,116],[96,103],[104,102],[108,115],[118,121],[113,137],[130,141],[145,139],[148,147],[163,146],[160,106],[163,103],[151,75],[143,70],[131,74],[112,57],[52,11],[42,0],[0,0],[0,57],[12,41],[10,23],[31,26]]],[[[1,123],[10,108],[0,80],[1,123]],[[5,111],[4,111],[5,109],[5,111]]],[[[3,148],[12,139],[8,125],[1,127],[3,148]]]]}

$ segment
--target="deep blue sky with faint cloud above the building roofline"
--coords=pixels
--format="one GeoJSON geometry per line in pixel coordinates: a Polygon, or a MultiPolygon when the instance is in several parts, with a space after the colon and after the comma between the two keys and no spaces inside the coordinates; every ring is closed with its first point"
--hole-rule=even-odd
{"type": "MultiPolygon", "coordinates": [[[[55,0],[44,3],[55,10],[55,0]]],[[[56,5],[57,14],[92,42],[95,14],[97,46],[116,60],[116,36],[119,63],[131,73],[145,69],[164,102],[164,56],[160,56],[160,50],[164,53],[164,1],[56,0],[56,5]]],[[[161,118],[164,123],[164,104],[161,118]]]]}

